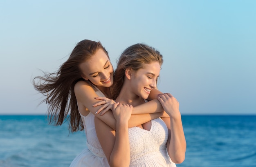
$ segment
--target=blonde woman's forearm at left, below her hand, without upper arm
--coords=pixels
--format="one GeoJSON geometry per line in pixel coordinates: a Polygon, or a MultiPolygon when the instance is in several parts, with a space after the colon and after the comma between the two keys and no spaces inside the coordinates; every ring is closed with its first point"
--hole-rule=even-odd
{"type": "Polygon", "coordinates": [[[128,123],[117,123],[115,145],[110,155],[111,167],[128,167],[130,164],[130,143],[128,123]]]}

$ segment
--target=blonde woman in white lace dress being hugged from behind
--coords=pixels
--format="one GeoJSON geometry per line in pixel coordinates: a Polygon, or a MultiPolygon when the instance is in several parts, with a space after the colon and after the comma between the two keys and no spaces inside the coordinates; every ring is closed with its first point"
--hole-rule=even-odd
{"type": "Polygon", "coordinates": [[[123,134],[95,118],[97,136],[111,167],[175,167],[184,161],[186,140],[179,103],[171,94],[157,98],[169,117],[128,128],[131,106],[146,104],[162,63],[162,55],[145,44],[128,47],[119,58],[111,88],[113,99],[121,105],[119,110],[124,110],[115,115],[123,134]]]}

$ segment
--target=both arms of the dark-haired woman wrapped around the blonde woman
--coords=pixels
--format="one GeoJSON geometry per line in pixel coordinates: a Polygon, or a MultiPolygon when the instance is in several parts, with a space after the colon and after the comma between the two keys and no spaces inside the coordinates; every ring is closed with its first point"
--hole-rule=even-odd
{"type": "MultiPolygon", "coordinates": [[[[95,93],[94,89],[85,81],[79,81],[74,86],[74,92],[76,95],[77,104],[79,111],[82,115],[87,116],[89,112],[95,115],[98,119],[106,123],[113,130],[116,130],[116,119],[113,116],[113,113],[107,112],[103,115],[100,115],[99,109],[102,108],[101,105],[95,106],[95,103],[106,103],[105,101],[97,99],[98,95],[95,93]],[[98,111],[98,112],[97,112],[98,111]],[[97,114],[96,114],[97,112],[97,114]]],[[[155,95],[151,97],[157,97],[159,91],[155,91],[155,95]]],[[[128,127],[134,127],[146,123],[152,119],[159,118],[163,115],[163,108],[161,103],[157,99],[153,99],[148,103],[138,105],[132,109],[132,116],[128,121],[128,127]]]]}

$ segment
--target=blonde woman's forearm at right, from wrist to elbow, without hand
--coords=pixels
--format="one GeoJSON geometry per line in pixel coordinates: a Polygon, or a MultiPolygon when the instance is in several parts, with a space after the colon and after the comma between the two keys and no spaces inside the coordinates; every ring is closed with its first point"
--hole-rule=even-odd
{"type": "Polygon", "coordinates": [[[182,163],[185,159],[186,139],[182,127],[182,120],[180,118],[170,118],[170,141],[168,146],[168,153],[175,163],[182,163]]]}

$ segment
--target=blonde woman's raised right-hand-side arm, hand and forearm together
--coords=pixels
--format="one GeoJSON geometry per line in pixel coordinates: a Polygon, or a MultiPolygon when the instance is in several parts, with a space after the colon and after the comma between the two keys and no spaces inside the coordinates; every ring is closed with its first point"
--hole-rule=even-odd
{"type": "Polygon", "coordinates": [[[185,159],[186,139],[182,127],[179,102],[171,94],[158,97],[170,118],[162,118],[168,127],[167,151],[174,163],[182,163],[185,159]]]}

